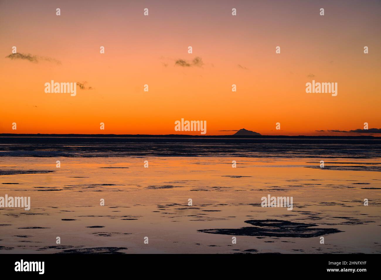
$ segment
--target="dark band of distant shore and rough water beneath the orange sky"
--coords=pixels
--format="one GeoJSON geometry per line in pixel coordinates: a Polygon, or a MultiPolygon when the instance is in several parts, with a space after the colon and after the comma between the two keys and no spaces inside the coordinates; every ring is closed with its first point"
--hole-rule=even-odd
{"type": "Polygon", "coordinates": [[[0,157],[376,158],[373,136],[0,134],[0,157]]]}

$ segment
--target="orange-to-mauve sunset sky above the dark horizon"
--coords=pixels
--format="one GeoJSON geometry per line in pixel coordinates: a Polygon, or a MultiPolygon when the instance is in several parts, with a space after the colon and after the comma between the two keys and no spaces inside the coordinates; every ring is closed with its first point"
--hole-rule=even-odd
{"type": "Polygon", "coordinates": [[[0,133],[200,134],[174,131],[184,118],[206,135],[359,135],[317,130],[381,128],[380,26],[380,1],[0,1],[0,133]],[[338,95],[306,93],[313,79],[338,95]]]}

